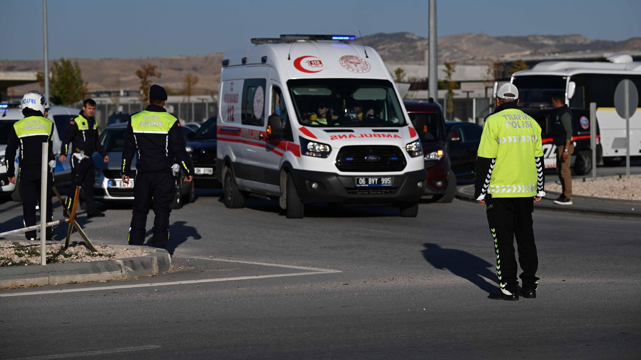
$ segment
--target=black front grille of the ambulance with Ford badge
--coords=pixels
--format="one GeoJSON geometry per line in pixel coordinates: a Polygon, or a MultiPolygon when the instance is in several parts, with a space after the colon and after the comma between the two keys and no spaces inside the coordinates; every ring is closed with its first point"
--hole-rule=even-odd
{"type": "Polygon", "coordinates": [[[405,165],[401,149],[391,145],[344,146],[336,158],[336,167],[344,172],[394,172],[405,165]],[[378,156],[378,160],[366,160],[370,155],[378,156]]]}

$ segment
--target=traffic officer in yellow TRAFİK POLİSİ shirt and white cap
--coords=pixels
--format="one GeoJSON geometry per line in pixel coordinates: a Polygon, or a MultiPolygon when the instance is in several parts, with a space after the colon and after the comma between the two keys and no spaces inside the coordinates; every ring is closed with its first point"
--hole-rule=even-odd
{"type": "Polygon", "coordinates": [[[532,212],[544,192],[541,127],[517,108],[519,90],[510,83],[496,92],[496,110],[485,118],[476,158],[474,198],[485,205],[494,240],[499,291],[490,299],[519,300],[514,238],[523,272],[520,295],[537,297],[537,245],[532,212]]]}

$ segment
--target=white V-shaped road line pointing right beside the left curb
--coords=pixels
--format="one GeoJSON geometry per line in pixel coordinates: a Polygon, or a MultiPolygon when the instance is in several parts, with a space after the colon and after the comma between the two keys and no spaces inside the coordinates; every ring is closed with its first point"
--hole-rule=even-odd
{"type": "MultiPolygon", "coordinates": [[[[176,258],[178,258],[178,256],[176,258]]],[[[149,284],[123,284],[123,285],[114,285],[114,286],[96,286],[96,287],[92,287],[92,288],[80,288],[80,289],[24,291],[24,292],[18,292],[18,293],[0,294],[0,297],[44,295],[44,294],[54,294],[54,293],[75,293],[75,292],[80,292],[80,291],[115,290],[115,289],[128,289],[128,288],[149,288],[151,286],[200,284],[202,282],[219,282],[219,281],[265,279],[265,278],[268,278],[268,277],[287,277],[287,276],[301,276],[301,275],[313,275],[313,274],[331,274],[331,273],[341,272],[340,270],[309,268],[309,267],[305,267],[305,266],[280,265],[280,264],[272,264],[272,263],[256,263],[256,262],[253,262],[253,261],[240,261],[240,260],[228,260],[228,259],[211,259],[211,258],[205,258],[204,256],[186,256],[186,257],[182,257],[182,258],[204,259],[204,260],[212,260],[212,261],[225,261],[225,262],[228,262],[228,263],[244,263],[244,264],[264,265],[264,266],[278,266],[278,267],[281,267],[281,268],[295,268],[295,269],[310,270],[310,271],[309,272],[296,272],[296,273],[289,273],[289,274],[272,274],[272,275],[222,277],[222,278],[217,278],[217,279],[199,279],[199,280],[185,280],[185,281],[152,282],[152,283],[149,283],[149,284]]]]}

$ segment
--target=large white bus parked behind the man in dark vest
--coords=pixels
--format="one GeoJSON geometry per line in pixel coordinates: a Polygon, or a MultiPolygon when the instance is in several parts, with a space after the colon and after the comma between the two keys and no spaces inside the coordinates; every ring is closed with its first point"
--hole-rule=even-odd
{"type": "MultiPolygon", "coordinates": [[[[596,102],[603,163],[615,166],[626,156],[626,120],[619,117],[614,108],[614,92],[621,80],[630,79],[641,94],[641,62],[633,61],[627,54],[615,54],[607,60],[544,61],[532,69],[515,72],[512,83],[519,88],[522,108],[551,108],[551,97],[556,92],[565,93],[565,103],[573,111],[589,112],[590,102],[596,102]]],[[[573,140],[589,141],[589,115],[582,115],[574,124],[580,127],[574,129],[573,140]]],[[[633,160],[641,159],[641,111],[638,110],[630,119],[630,156],[633,160]]]]}

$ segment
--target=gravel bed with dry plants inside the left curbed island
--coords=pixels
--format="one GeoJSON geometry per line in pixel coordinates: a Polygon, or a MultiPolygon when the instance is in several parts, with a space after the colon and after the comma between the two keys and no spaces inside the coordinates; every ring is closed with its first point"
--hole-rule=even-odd
{"type": "MultiPolygon", "coordinates": [[[[96,245],[97,252],[90,252],[84,245],[69,246],[62,243],[47,243],[47,264],[101,261],[134,256],[146,256],[150,252],[140,249],[121,249],[96,245]]],[[[40,265],[39,242],[0,241],[0,266],[40,265]]]]}

